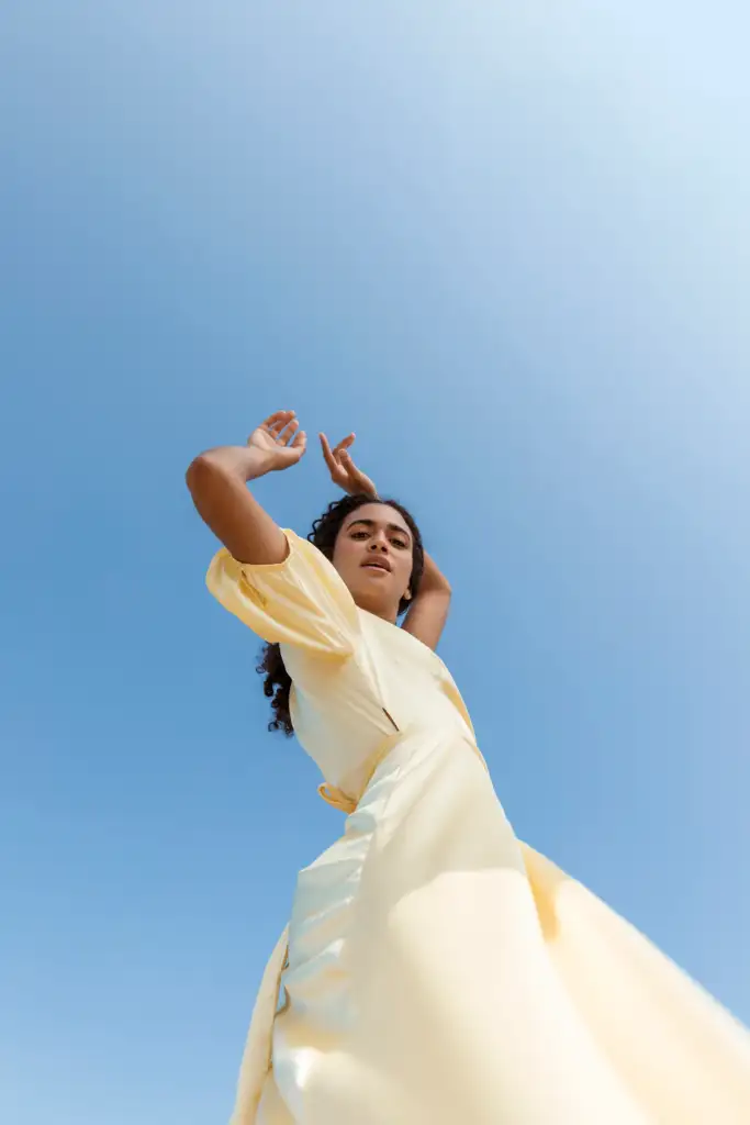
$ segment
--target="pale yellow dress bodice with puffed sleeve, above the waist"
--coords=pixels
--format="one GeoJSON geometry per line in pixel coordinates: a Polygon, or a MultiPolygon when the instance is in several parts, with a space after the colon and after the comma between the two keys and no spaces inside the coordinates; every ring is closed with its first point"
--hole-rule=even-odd
{"type": "Polygon", "coordinates": [[[287,531],[281,564],[237,562],[218,551],[208,586],[259,637],[281,645],[292,680],[300,745],[326,782],[356,793],[395,729],[472,738],[471,720],[442,659],[410,633],[354,604],[311,543],[287,531]]]}

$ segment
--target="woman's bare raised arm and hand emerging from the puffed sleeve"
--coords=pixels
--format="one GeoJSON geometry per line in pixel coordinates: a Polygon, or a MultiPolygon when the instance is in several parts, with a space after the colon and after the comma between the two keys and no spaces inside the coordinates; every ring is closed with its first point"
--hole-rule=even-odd
{"type": "Polygon", "coordinates": [[[249,480],[296,465],[306,438],[293,411],[277,411],[247,440],[191,461],[186,480],[199,515],[238,562],[283,562],[287,539],[247,488],[249,480]]]}

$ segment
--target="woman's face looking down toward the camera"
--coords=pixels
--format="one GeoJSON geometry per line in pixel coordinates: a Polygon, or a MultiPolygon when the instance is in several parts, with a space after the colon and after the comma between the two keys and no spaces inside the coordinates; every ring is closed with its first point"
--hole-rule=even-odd
{"type": "Polygon", "coordinates": [[[387,504],[363,504],[347,515],[333,552],[333,565],[362,610],[396,621],[409,588],[412,532],[387,504]]]}

